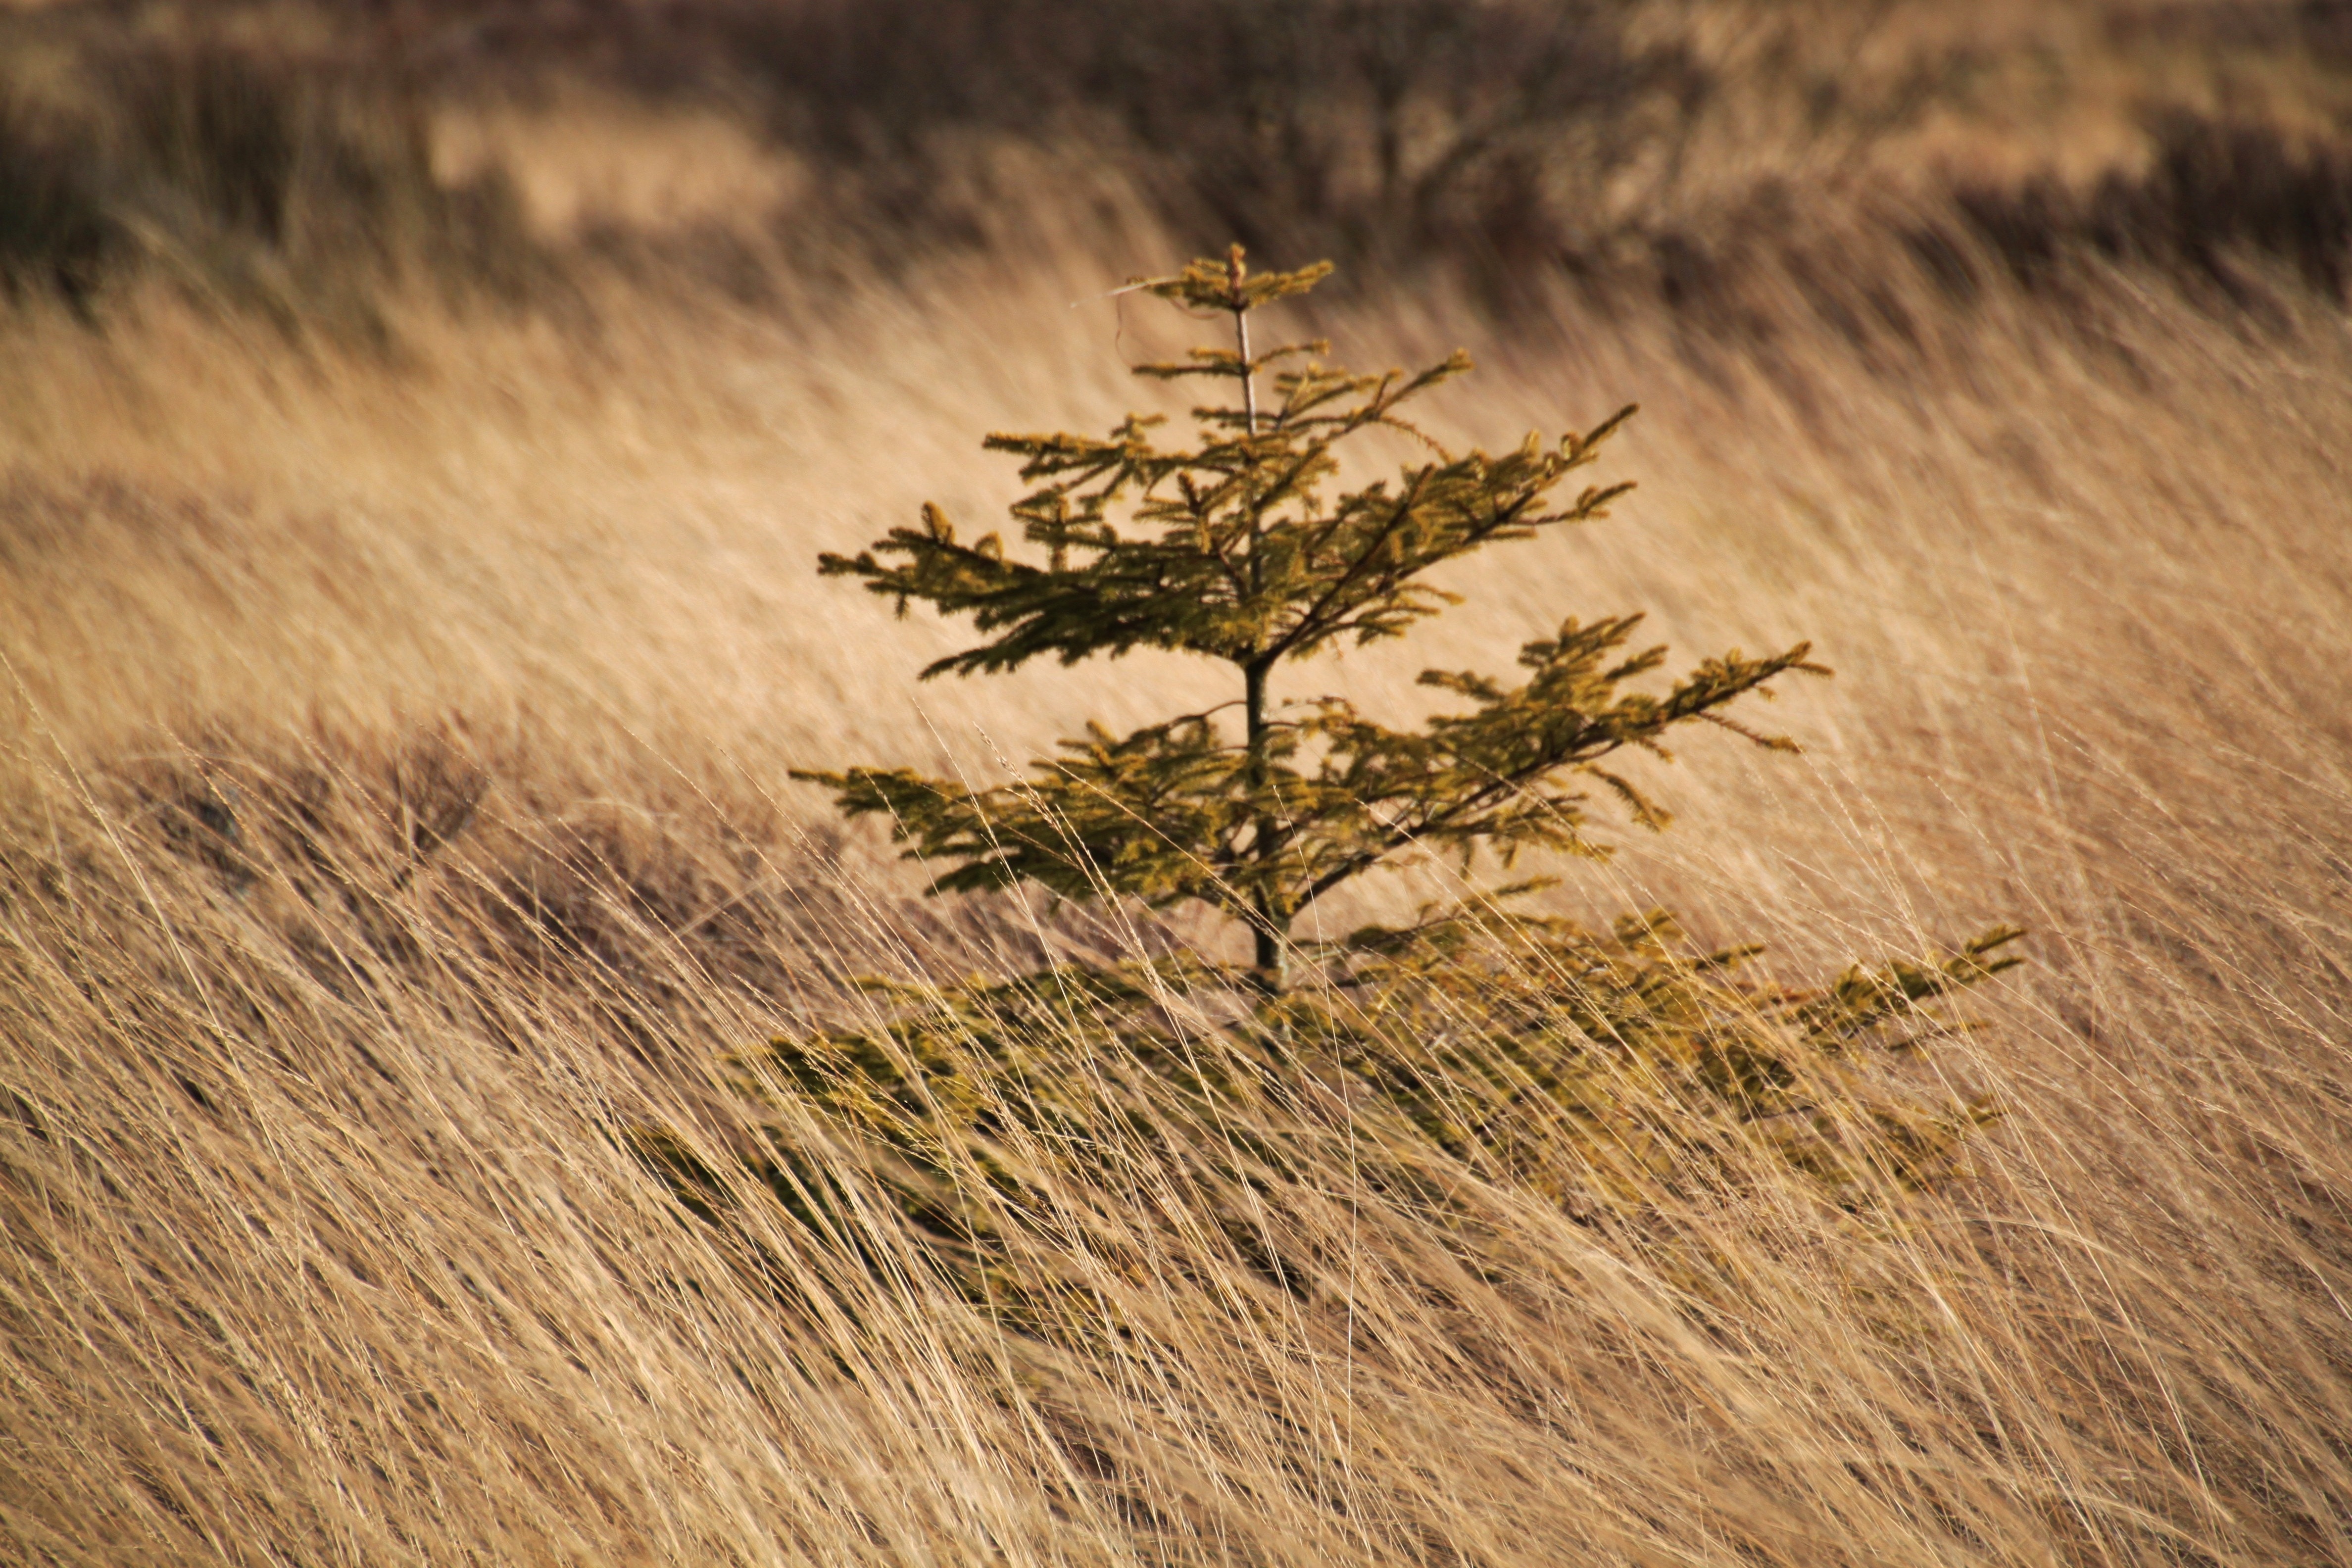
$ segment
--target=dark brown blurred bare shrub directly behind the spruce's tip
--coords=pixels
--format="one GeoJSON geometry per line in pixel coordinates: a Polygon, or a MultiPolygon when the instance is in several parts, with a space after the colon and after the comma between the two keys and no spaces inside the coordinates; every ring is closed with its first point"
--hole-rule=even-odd
{"type": "Polygon", "coordinates": [[[1529,256],[1653,148],[1703,78],[1609,0],[807,0],[743,7],[729,56],[776,134],[920,162],[938,132],[1089,139],[1207,240],[1282,254],[1529,256]]]}

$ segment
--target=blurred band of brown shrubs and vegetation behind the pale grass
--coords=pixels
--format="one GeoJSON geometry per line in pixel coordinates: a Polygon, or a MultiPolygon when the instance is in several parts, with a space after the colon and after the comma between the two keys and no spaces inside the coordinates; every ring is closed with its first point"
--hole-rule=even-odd
{"type": "Polygon", "coordinates": [[[141,268],[517,299],[550,254],[654,249],[757,294],[762,263],[1018,249],[1044,205],[1715,334],[1771,329],[1776,270],[1900,341],[1889,268],[1955,303],[2079,259],[2340,301],[2347,115],[2333,0],[33,5],[0,19],[0,277],[82,310],[141,268]],[[734,143],[668,205],[680,169],[628,165],[691,153],[614,132],[663,113],[734,143]]]}

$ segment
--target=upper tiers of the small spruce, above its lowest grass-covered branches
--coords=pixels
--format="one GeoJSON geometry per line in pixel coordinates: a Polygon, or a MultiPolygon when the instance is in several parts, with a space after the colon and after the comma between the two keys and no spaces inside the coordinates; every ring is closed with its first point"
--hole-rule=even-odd
{"type": "Polygon", "coordinates": [[[908,769],[795,778],[830,785],[849,816],[889,813],[910,858],[953,863],[936,879],[943,891],[1037,882],[1068,898],[1207,903],[1251,931],[1256,980],[1279,990],[1296,917],[1402,853],[1439,849],[1465,865],[1479,849],[1505,865],[1522,849],[1602,853],[1585,837],[1588,783],[1637,823],[1663,825],[1609,766],[1623,748],[1665,755],[1665,731],[1698,719],[1788,750],[1724,708],[1790,670],[1818,672],[1806,644],[1769,658],[1733,649],[1665,691],[1625,691],[1665,663],[1663,646],[1625,651],[1639,616],[1564,621],[1519,651],[1519,684],[1425,670],[1421,684],[1463,708],[1421,729],[1388,729],[1329,696],[1270,696],[1284,661],[1399,637],[1454,604],[1425,581],[1432,567],[1604,517],[1632,489],[1564,491],[1630,407],[1557,444],[1529,435],[1503,454],[1456,454],[1416,430],[1404,404],[1465,374],[1468,355],[1414,376],[1359,376],[1322,364],[1324,343],[1254,353],[1249,317],[1329,270],[1251,275],[1232,247],[1136,284],[1195,315],[1230,315],[1235,334],[1230,348],[1136,374],[1202,376],[1230,395],[1192,409],[1190,444],[1162,444],[1164,421],[1136,414],[1101,440],[990,435],[985,444],[1018,454],[1037,487],[1011,517],[1042,562],[1007,552],[1000,534],[960,541],[936,505],[922,508],[920,529],[821,557],[826,576],[861,578],[901,611],[922,599],[971,618],[981,642],[927,677],[1152,646],[1230,663],[1235,701],[1129,736],[1089,724],[1030,778],[995,790],[908,769]],[[1261,407],[1268,369],[1272,397],[1261,407]],[[1327,494],[1338,444],[1371,430],[1402,430],[1425,456],[1395,480],[1327,494]],[[1228,738],[1221,717],[1232,708],[1242,729],[1228,738]]]}

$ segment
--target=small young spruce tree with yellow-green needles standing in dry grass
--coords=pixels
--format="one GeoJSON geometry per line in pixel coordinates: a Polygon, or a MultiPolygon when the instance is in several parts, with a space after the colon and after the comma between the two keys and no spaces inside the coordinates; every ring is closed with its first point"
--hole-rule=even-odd
{"type": "MultiPolygon", "coordinates": [[[[1188,444],[1141,416],[1103,440],[988,437],[1037,484],[1014,505],[1028,559],[995,534],[957,541],[938,508],[866,555],[823,557],[828,574],[901,607],[971,616],[981,642],[929,675],[1178,649],[1230,665],[1232,701],[1129,736],[1091,729],[993,790],[903,769],[800,773],[849,813],[887,813],[910,853],[948,867],[941,889],[1035,882],[1068,898],[1204,903],[1249,931],[1254,961],[875,980],[887,1016],[779,1034],[736,1058],[753,1100],[795,1105],[767,1124],[750,1175],[804,1225],[854,1239],[866,1220],[826,1143],[847,1140],[960,1288],[1007,1321],[1080,1338],[1101,1331],[1101,1312],[1075,1260],[1131,1262],[1117,1239],[1127,1220],[1098,1234],[1080,1213],[1084,1194],[1101,1197],[1094,1161],[1122,1140],[1150,1140],[1197,1192],[1223,1192],[1202,1201],[1251,1267],[1287,1288],[1312,1276],[1310,1258],[1268,1253],[1265,1222],[1279,1192],[1322,1192],[1315,1161],[1336,1157],[1317,1154],[1329,1124],[1305,1110],[1305,1084],[1345,1095],[1350,1168],[1430,1213],[1454,1201],[1435,1157],[1578,1213],[1635,1218],[1759,1168],[1795,1171],[1846,1208],[1950,1180],[1969,1128],[1994,1107],[1919,1098],[1867,1058],[1947,1032],[1938,1001],[2013,964],[2002,954],[2013,929],[1811,987],[1755,978],[1743,969],[1755,947],[1691,950],[1663,912],[1613,931],[1505,917],[1491,898],[1512,889],[1399,931],[1294,940],[1301,912],[1411,851],[1595,853],[1595,785],[1661,825],[1665,813],[1613,771],[1618,752],[1663,752],[1693,722],[1788,745],[1726,708],[1816,668],[1804,644],[1724,654],[1642,691],[1632,684],[1665,654],[1628,651],[1639,618],[1611,616],[1529,642],[1517,684],[1423,675],[1458,708],[1421,729],[1282,691],[1287,665],[1444,609],[1449,595],[1428,583],[1442,562],[1595,520],[1625,489],[1571,491],[1571,480],[1630,409],[1503,454],[1421,442],[1395,477],[1341,489],[1341,444],[1376,430],[1418,440],[1406,407],[1468,362],[1355,376],[1324,367],[1319,343],[1256,350],[1251,315],[1327,270],[1254,277],[1235,249],[1138,284],[1232,324],[1230,348],[1143,374],[1200,376],[1228,395],[1195,411],[1188,444]],[[816,1143],[809,1110],[828,1128],[816,1143]],[[1202,1126],[1218,1135],[1200,1138],[1202,1126]]],[[[640,1147],[706,1220],[739,1201],[677,1138],[652,1128],[640,1147]]]]}

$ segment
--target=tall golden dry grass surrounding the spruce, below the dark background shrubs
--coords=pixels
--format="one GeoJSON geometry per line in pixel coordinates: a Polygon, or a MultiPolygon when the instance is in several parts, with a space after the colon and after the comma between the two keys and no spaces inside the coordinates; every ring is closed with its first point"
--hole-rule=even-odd
{"type": "Polygon", "coordinates": [[[927,903],[781,783],[1188,691],[917,689],[953,628],[811,574],[1002,505],[981,430],[1138,402],[1164,329],[1096,296],[1155,219],[1105,254],[1051,212],[762,310],[419,303],[397,364],[162,292],[7,327],[0,1556],[2352,1559],[2352,341],[2286,277],[2265,320],[2133,273],[1962,317],[1889,270],[1910,334],[1860,348],[1771,270],[1733,346],[1573,296],[1317,322],[1468,341],[1451,437],[1644,402],[1616,522],[1329,686],[1411,712],[1564,611],[1813,637],[1839,679],[1773,715],[1809,752],[1693,745],[1651,778],[1682,823],[1562,907],[1792,976],[2030,924],[1926,1067],[2011,1107],[1971,1180],[1595,1225],[1442,1161],[1442,1201],[1383,1187],[1294,1084],[1042,1159],[1009,1246],[1075,1274],[1049,1326],[929,1272],[814,1117],[828,1225],[680,1208],[630,1133],[727,1168],[720,1058],[858,1018],[844,976],[1134,940],[927,903]]]}

